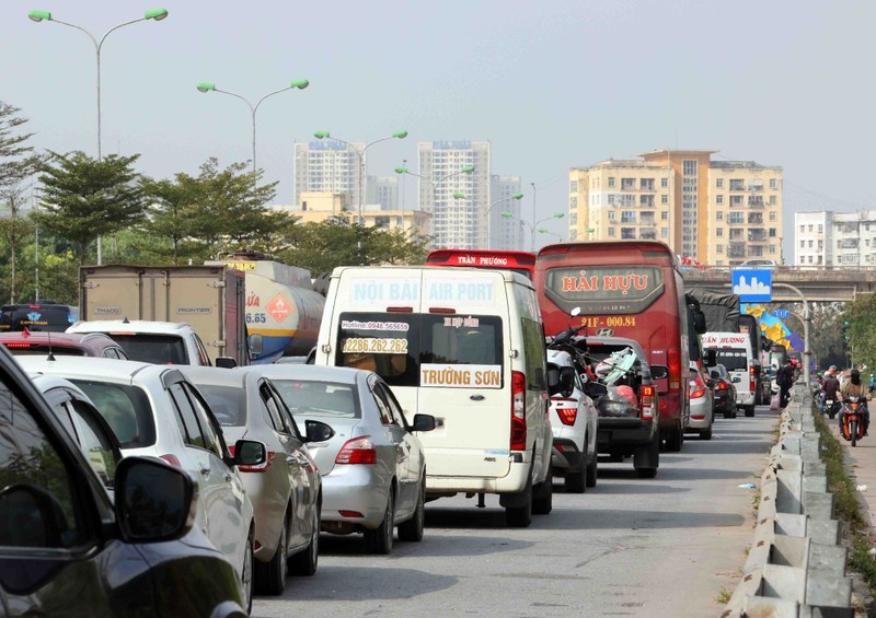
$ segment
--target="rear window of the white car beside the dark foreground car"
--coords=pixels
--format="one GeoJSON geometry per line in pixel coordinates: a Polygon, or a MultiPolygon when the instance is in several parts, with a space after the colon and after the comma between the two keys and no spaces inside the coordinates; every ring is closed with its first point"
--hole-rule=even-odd
{"type": "Polygon", "coordinates": [[[152,406],[142,388],[96,380],[73,380],[106,423],[122,448],[141,448],[155,443],[152,406]]]}

